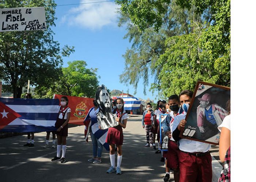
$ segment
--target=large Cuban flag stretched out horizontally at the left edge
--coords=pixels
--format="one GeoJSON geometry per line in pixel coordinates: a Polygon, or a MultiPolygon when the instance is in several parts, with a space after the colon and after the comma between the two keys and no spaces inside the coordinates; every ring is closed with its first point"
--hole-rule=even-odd
{"type": "Polygon", "coordinates": [[[56,131],[58,114],[58,99],[0,98],[0,131],[56,131]]]}

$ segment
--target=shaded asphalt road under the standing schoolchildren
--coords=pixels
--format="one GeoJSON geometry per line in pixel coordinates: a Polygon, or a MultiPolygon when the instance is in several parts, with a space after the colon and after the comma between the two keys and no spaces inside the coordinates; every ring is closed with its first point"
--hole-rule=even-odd
{"type": "MultiPolygon", "coordinates": [[[[87,159],[92,157],[92,143],[90,138],[89,144],[85,143],[84,126],[78,126],[69,128],[65,156],[67,162],[63,164],[51,162],[51,158],[56,155],[57,147],[43,149],[46,132],[35,134],[34,147],[23,147],[27,141],[26,135],[0,139],[0,181],[160,182],[165,175],[165,166],[160,162],[160,154],[155,154],[153,148],[144,147],[146,134],[140,121],[141,116],[130,117],[127,128],[123,130],[121,175],[106,173],[110,167],[110,160],[105,149],[102,152],[102,163],[87,162],[87,159]]],[[[173,179],[172,174],[170,177],[173,179]]]]}

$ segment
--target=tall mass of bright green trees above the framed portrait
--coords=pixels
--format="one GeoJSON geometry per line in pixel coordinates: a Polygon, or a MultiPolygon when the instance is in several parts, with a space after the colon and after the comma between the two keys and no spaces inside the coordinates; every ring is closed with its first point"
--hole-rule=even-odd
{"type": "Polygon", "coordinates": [[[193,90],[197,80],[230,86],[230,0],[147,2],[117,1],[124,20],[131,21],[126,37],[133,41],[121,81],[136,88],[153,74],[151,90],[165,97],[193,90]],[[150,38],[143,39],[146,35],[150,38]]]}

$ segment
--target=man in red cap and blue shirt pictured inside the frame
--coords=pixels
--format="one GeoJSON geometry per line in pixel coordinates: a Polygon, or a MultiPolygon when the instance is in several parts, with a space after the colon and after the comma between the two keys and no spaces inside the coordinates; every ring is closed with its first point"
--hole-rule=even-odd
{"type": "Polygon", "coordinates": [[[222,123],[228,112],[221,106],[211,103],[211,95],[206,93],[198,98],[200,105],[197,107],[197,126],[203,140],[218,134],[218,126],[222,123]]]}

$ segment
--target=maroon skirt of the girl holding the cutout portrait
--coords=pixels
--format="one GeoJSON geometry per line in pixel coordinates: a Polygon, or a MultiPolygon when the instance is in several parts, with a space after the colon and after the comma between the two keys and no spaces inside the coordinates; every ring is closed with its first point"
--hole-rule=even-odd
{"type": "Polygon", "coordinates": [[[123,129],[120,125],[109,128],[108,135],[106,138],[106,143],[123,145],[123,141],[124,141],[123,129]]]}

